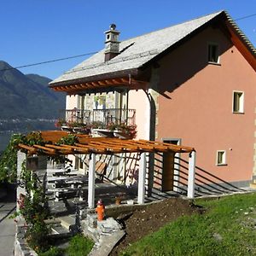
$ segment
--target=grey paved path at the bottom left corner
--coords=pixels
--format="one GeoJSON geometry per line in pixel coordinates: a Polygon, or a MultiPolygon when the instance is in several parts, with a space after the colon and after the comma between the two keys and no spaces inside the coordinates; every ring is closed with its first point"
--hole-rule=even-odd
{"type": "Polygon", "coordinates": [[[9,218],[15,212],[15,201],[0,197],[0,255],[11,256],[15,242],[15,221],[9,218]]]}

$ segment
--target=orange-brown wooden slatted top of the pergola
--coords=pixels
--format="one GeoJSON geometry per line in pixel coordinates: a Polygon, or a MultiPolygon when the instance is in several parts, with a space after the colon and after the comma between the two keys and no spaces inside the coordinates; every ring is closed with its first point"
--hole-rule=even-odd
{"type": "Polygon", "coordinates": [[[42,131],[45,141],[42,145],[19,144],[18,147],[26,150],[27,154],[121,154],[143,152],[180,152],[189,153],[194,148],[169,143],[152,142],[147,140],[125,140],[109,137],[90,137],[77,135],[79,143],[74,145],[55,144],[61,137],[67,136],[66,131],[42,131]],[[49,142],[49,143],[48,143],[49,142]]]}

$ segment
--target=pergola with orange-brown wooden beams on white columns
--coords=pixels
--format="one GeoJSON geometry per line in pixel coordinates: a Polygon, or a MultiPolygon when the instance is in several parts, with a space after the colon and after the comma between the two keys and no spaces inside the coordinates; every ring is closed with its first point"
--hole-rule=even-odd
{"type": "Polygon", "coordinates": [[[110,137],[90,137],[88,135],[77,135],[78,143],[74,145],[56,144],[61,137],[67,136],[65,131],[42,131],[44,146],[33,144],[26,145],[20,143],[18,147],[28,155],[68,155],[68,154],[90,154],[89,179],[88,179],[88,207],[95,207],[95,173],[96,154],[123,154],[139,153],[139,173],[138,173],[138,195],[137,202],[144,203],[145,180],[146,180],[146,154],[147,153],[189,153],[189,179],[188,197],[195,195],[195,148],[174,145],[170,143],[160,143],[147,140],[130,140],[110,137]]]}

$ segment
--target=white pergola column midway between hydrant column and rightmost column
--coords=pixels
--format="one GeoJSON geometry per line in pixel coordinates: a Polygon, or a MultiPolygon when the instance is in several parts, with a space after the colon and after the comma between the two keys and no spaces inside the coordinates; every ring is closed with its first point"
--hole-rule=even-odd
{"type": "Polygon", "coordinates": [[[146,153],[141,154],[139,160],[139,175],[138,175],[138,188],[137,188],[137,203],[143,204],[145,201],[145,181],[146,181],[146,168],[147,160],[146,153]]]}

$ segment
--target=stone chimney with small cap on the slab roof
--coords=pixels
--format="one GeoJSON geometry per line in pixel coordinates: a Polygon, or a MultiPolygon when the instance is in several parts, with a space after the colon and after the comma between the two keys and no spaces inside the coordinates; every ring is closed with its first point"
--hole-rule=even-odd
{"type": "Polygon", "coordinates": [[[111,24],[109,30],[105,32],[105,61],[111,60],[116,55],[119,55],[119,31],[115,30],[116,26],[111,24]]]}

